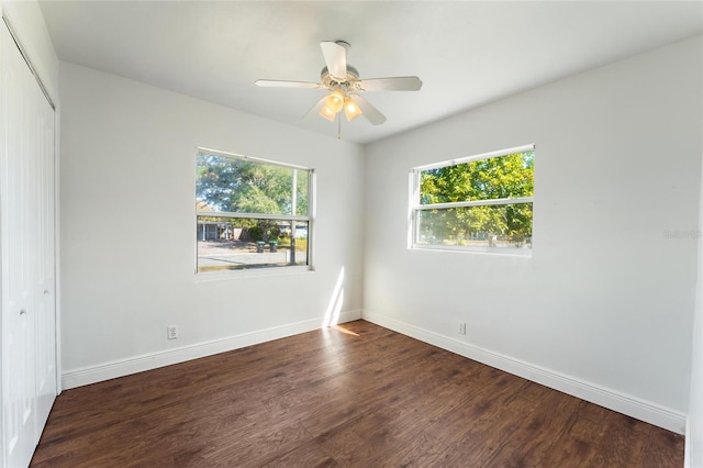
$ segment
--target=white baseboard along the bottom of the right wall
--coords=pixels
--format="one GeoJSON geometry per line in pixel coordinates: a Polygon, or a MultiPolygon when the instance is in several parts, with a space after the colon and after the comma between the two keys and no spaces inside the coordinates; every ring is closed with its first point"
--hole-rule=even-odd
{"type": "Polygon", "coordinates": [[[366,321],[420,339],[421,342],[590,401],[609,410],[617,411],[618,413],[663,427],[677,434],[683,434],[685,432],[687,415],[680,411],[450,338],[383,314],[365,310],[362,317],[366,321]]]}

